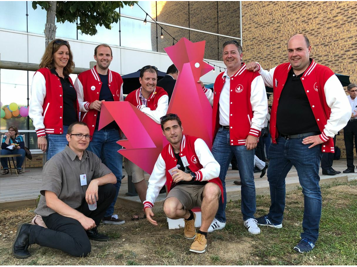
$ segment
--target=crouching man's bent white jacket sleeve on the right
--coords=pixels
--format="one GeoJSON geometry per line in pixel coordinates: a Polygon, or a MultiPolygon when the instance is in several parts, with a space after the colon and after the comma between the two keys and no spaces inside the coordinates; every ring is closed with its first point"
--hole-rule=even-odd
{"type": "Polygon", "coordinates": [[[199,162],[202,165],[202,169],[196,171],[196,181],[209,181],[217,178],[220,172],[220,165],[214,159],[210,149],[205,141],[197,138],[195,141],[195,152],[199,162]]]}

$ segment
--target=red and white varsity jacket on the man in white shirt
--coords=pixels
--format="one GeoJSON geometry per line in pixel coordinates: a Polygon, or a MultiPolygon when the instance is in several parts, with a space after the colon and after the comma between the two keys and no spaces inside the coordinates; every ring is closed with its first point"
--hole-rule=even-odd
{"type": "MultiPolygon", "coordinates": [[[[227,70],[220,73],[214,83],[214,93],[204,92],[213,105],[213,136],[219,129],[219,99],[227,77],[227,70]]],[[[224,102],[230,107],[231,145],[244,145],[248,135],[259,137],[268,113],[268,100],[262,77],[246,70],[245,64],[231,76],[230,98],[224,102]]]]}

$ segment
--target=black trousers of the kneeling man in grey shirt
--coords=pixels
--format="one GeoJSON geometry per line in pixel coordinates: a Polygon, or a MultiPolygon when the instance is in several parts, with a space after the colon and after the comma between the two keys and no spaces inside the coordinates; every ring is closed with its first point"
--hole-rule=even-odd
{"type": "MultiPolygon", "coordinates": [[[[113,202],[116,188],[112,184],[99,186],[97,209],[90,211],[88,204],[83,200],[77,209],[85,216],[92,218],[98,226],[109,205],[113,202]]],[[[85,257],[91,250],[86,230],[75,219],[53,213],[42,217],[48,228],[32,225],[30,230],[30,244],[62,250],[75,257],[85,257]]]]}

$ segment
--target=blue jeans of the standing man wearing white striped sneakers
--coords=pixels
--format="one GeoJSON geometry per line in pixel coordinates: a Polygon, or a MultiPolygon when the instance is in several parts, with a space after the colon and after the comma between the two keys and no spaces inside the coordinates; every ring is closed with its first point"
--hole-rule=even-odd
{"type": "Polygon", "coordinates": [[[227,202],[227,194],[225,191],[225,175],[230,166],[233,155],[236,156],[241,178],[242,188],[242,214],[243,220],[254,218],[256,213],[256,185],[254,184],[254,150],[247,150],[245,145],[231,145],[230,131],[219,129],[215,137],[212,154],[216,161],[221,166],[219,179],[223,184],[224,202],[219,201],[216,219],[220,222],[225,222],[225,206],[227,202]]]}

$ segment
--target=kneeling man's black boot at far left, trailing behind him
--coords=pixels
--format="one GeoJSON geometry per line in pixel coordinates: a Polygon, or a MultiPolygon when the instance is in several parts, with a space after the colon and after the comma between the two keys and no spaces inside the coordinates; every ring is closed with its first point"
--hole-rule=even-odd
{"type": "Polygon", "coordinates": [[[16,237],[14,244],[12,245],[12,255],[18,259],[25,259],[30,257],[28,250],[30,246],[30,229],[31,224],[23,223],[17,227],[16,237]]]}

